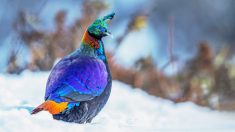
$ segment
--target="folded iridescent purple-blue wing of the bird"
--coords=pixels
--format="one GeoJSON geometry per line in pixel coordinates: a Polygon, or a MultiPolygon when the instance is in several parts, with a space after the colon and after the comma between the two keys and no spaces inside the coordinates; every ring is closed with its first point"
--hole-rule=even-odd
{"type": "Polygon", "coordinates": [[[62,59],[47,82],[45,99],[52,96],[86,101],[99,96],[107,85],[108,72],[103,61],[92,57],[62,59]]]}

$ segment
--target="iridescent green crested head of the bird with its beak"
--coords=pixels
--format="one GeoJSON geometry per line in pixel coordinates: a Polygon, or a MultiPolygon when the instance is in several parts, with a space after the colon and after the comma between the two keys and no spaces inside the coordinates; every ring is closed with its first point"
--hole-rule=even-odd
{"type": "Polygon", "coordinates": [[[105,16],[103,19],[96,19],[89,27],[88,32],[92,36],[101,39],[104,36],[111,35],[108,31],[107,27],[107,20],[113,19],[115,13],[109,14],[105,16]]]}

